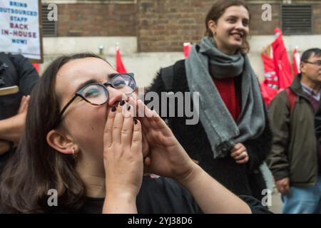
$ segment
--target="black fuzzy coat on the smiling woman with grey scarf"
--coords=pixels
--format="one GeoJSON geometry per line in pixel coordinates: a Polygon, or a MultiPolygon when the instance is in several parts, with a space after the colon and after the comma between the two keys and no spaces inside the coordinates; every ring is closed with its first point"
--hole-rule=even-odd
{"type": "MultiPolygon", "coordinates": [[[[189,92],[188,82],[185,73],[185,61],[178,61],[173,67],[173,92],[189,92]]],[[[158,94],[166,91],[160,73],[154,78],[148,91],[158,94]]],[[[160,96],[161,99],[161,96],[160,96]]],[[[146,101],[146,103],[149,103],[146,101]]],[[[175,105],[177,107],[177,104],[175,105]]],[[[161,105],[160,105],[161,113],[161,105]]],[[[176,115],[175,115],[176,116],[176,115]]],[[[257,199],[262,199],[262,190],[266,188],[265,180],[260,165],[263,164],[267,154],[270,152],[272,143],[272,133],[267,116],[265,118],[265,130],[255,140],[247,140],[243,145],[248,150],[250,160],[245,165],[239,165],[232,157],[213,159],[213,152],[209,139],[205,133],[203,125],[186,125],[186,117],[167,118],[168,125],[175,137],[188,152],[190,157],[198,160],[200,167],[208,172],[215,180],[231,190],[235,195],[252,195],[257,199]]]]}

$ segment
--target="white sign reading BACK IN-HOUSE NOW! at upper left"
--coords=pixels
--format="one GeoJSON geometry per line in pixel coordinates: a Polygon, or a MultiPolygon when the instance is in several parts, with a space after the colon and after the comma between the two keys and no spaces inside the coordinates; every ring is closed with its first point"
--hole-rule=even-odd
{"type": "Polygon", "coordinates": [[[0,0],[0,51],[41,61],[39,0],[0,0]]]}

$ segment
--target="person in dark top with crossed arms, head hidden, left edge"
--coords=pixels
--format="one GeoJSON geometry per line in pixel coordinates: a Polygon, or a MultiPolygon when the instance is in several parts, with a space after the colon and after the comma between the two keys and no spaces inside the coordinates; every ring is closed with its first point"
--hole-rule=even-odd
{"type": "Polygon", "coordinates": [[[21,137],[29,95],[39,79],[21,55],[0,53],[0,173],[21,137]],[[16,86],[16,87],[14,87],[16,86]]]}

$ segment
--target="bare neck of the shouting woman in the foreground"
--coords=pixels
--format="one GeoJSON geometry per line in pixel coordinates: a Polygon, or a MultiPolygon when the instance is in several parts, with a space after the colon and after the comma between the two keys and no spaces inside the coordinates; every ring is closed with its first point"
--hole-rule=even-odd
{"type": "Polygon", "coordinates": [[[76,172],[81,177],[86,188],[86,197],[104,198],[106,195],[105,169],[101,162],[79,157],[76,172]]]}

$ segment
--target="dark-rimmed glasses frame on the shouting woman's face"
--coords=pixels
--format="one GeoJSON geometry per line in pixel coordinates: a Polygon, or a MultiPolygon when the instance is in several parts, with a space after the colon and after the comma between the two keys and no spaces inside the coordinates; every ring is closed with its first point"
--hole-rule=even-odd
{"type": "MultiPolygon", "coordinates": [[[[136,81],[135,81],[135,78],[134,78],[134,74],[133,73],[118,73],[116,74],[115,76],[113,76],[113,78],[111,78],[111,80],[107,81],[106,83],[91,83],[91,84],[88,84],[86,86],[83,86],[83,88],[81,88],[80,90],[78,90],[74,95],[73,97],[68,101],[68,103],[66,103],[66,105],[63,106],[63,109],[59,112],[58,114],[58,118],[56,120],[56,124],[55,126],[58,124],[58,121],[61,119],[63,113],[65,113],[66,109],[68,108],[69,105],[71,105],[71,103],[73,102],[73,100],[75,100],[77,97],[80,97],[81,99],[85,100],[87,103],[90,103],[91,105],[103,105],[104,103],[106,103],[109,99],[109,93],[108,93],[108,89],[107,89],[107,86],[111,86],[112,88],[115,88],[116,87],[113,85],[113,83],[111,83],[111,81],[113,81],[114,78],[118,77],[118,76],[123,76],[123,75],[126,75],[126,76],[130,76],[132,79],[133,79],[133,82],[135,83],[135,88],[133,89],[133,92],[136,90],[136,81]],[[87,88],[88,86],[93,86],[93,85],[97,85],[97,86],[101,86],[103,87],[103,89],[105,90],[105,93],[107,94],[107,100],[101,104],[94,104],[94,103],[91,103],[89,100],[87,100],[86,98],[83,97],[83,95],[81,95],[81,93],[83,92],[83,90],[85,88],[87,88]]],[[[131,93],[133,93],[131,92],[131,93]]],[[[126,94],[131,94],[131,93],[126,93],[126,94]]]]}

